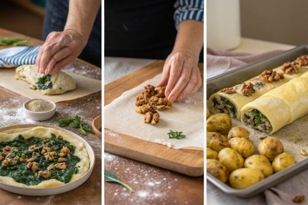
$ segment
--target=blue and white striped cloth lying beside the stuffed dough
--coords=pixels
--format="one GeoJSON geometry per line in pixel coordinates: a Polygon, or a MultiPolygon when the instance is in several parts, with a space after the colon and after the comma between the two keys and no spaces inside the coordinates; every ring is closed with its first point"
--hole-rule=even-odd
{"type": "Polygon", "coordinates": [[[0,67],[15,68],[19,65],[35,64],[36,56],[41,45],[17,46],[6,49],[0,49],[0,67]]]}

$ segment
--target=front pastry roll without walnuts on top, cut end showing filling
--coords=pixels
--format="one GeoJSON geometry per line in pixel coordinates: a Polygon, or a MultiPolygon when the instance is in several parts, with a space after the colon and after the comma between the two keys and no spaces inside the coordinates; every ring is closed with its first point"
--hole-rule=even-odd
{"type": "Polygon", "coordinates": [[[308,113],[308,72],[241,109],[241,122],[270,135],[308,113]]]}

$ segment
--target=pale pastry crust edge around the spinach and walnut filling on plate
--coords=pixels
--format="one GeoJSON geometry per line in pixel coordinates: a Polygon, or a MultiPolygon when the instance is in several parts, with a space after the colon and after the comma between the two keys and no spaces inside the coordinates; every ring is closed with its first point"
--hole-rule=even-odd
{"type": "MultiPolygon", "coordinates": [[[[75,147],[74,155],[80,158],[80,162],[78,162],[76,166],[80,166],[80,168],[78,169],[77,174],[73,174],[70,182],[79,179],[89,170],[90,159],[88,156],[88,152],[82,142],[79,142],[77,139],[75,139],[75,137],[65,132],[62,132],[54,128],[43,128],[43,127],[11,129],[11,130],[6,130],[4,132],[0,132],[0,142],[13,140],[19,134],[21,134],[25,139],[28,139],[32,136],[39,137],[41,139],[47,139],[51,138],[51,133],[54,133],[56,136],[61,135],[63,137],[63,140],[69,141],[71,145],[75,147]]],[[[58,181],[56,179],[49,179],[39,183],[38,185],[28,186],[23,183],[18,183],[13,178],[7,176],[0,176],[0,181],[19,187],[33,187],[33,188],[54,187],[64,184],[63,182],[58,181]]]]}

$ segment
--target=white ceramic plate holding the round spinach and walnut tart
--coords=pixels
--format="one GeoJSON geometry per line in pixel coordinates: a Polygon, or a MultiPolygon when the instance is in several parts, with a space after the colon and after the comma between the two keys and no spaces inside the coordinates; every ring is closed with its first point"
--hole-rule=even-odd
{"type": "Polygon", "coordinates": [[[34,128],[34,127],[45,127],[45,128],[55,128],[57,130],[66,132],[67,134],[74,136],[77,140],[82,142],[87,149],[89,158],[90,158],[90,168],[89,170],[79,179],[76,179],[75,181],[56,186],[56,187],[48,187],[48,188],[28,188],[28,187],[17,187],[14,185],[10,185],[4,182],[0,181],[0,188],[13,192],[15,194],[21,194],[21,195],[29,195],[29,196],[47,196],[47,195],[55,195],[55,194],[61,194],[67,191],[71,191],[72,189],[75,189],[76,187],[79,187],[81,184],[83,184],[87,179],[90,177],[95,163],[95,154],[90,146],[90,144],[87,143],[86,140],[84,140],[79,135],[75,134],[74,132],[68,131],[63,128],[51,126],[51,125],[44,125],[44,124],[19,124],[19,125],[13,125],[8,126],[4,128],[0,128],[0,132],[10,130],[10,129],[18,129],[18,128],[34,128]]]}

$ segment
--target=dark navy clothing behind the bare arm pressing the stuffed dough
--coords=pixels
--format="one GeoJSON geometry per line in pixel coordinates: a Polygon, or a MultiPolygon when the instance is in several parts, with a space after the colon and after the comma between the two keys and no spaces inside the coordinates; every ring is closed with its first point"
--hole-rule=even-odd
{"type": "MultiPolygon", "coordinates": [[[[42,39],[52,31],[63,31],[67,14],[68,0],[47,0],[42,39]]],[[[89,40],[82,53],[78,56],[93,65],[102,67],[102,9],[96,16],[89,40]]]]}

